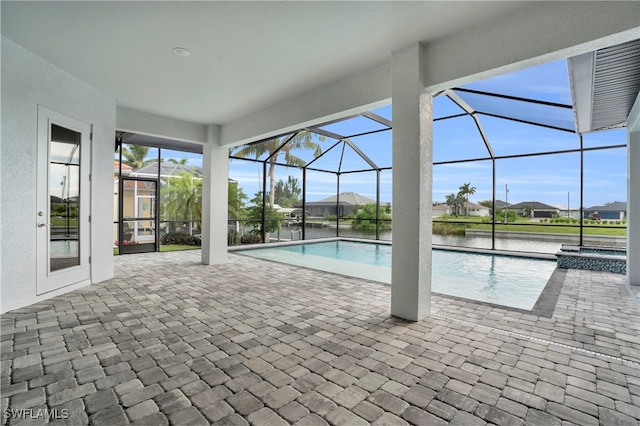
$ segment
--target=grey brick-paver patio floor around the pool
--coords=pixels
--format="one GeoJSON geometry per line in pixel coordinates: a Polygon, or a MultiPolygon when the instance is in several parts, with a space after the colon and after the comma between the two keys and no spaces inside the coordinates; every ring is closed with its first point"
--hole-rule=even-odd
{"type": "Polygon", "coordinates": [[[3,314],[3,424],[640,424],[624,276],[568,270],[549,317],[433,295],[407,322],[386,285],[199,261],[117,256],[113,279],[3,314]]]}

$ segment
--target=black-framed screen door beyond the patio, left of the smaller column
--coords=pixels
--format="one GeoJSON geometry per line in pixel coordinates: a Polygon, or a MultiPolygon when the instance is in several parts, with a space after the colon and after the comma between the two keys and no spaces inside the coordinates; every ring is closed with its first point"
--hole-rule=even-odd
{"type": "Polygon", "coordinates": [[[123,177],[120,182],[120,254],[156,251],[158,181],[123,177]]]}

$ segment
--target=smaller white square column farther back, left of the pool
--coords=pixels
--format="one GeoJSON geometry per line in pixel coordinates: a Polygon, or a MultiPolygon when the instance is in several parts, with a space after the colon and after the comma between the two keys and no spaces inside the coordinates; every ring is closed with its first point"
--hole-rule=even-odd
{"type": "Polygon", "coordinates": [[[229,148],[221,148],[220,127],[207,128],[202,156],[202,263],[227,261],[229,148]]]}

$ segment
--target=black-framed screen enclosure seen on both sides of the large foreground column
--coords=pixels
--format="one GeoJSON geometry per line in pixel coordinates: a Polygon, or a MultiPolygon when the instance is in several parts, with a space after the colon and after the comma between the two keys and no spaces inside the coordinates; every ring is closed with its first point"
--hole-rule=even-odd
{"type": "MultiPolygon", "coordinates": [[[[571,66],[434,97],[434,244],[539,253],[626,245],[624,119],[579,131],[571,66]]],[[[234,200],[246,193],[252,207],[230,217],[230,244],[391,240],[392,131],[389,105],[231,150],[234,200]]]]}

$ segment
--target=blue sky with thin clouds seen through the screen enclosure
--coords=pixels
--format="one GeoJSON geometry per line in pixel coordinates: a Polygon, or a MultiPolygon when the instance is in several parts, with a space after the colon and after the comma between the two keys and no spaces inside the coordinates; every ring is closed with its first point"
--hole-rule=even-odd
{"type": "MultiPolygon", "coordinates": [[[[463,86],[467,89],[508,94],[528,99],[571,104],[566,61],[556,61],[533,68],[493,77],[463,86]]],[[[504,102],[495,98],[461,93],[470,105],[478,110],[495,113],[514,112],[524,120],[544,120],[546,124],[572,127],[573,112],[561,108],[504,102]],[[514,105],[517,104],[517,105],[514,105]]],[[[391,119],[391,105],[373,112],[391,119]]],[[[434,98],[434,117],[459,114],[462,110],[444,96],[434,98]]],[[[528,154],[579,148],[578,135],[540,126],[518,123],[478,115],[482,128],[496,156],[528,154]]],[[[342,135],[359,134],[382,128],[378,123],[363,117],[321,126],[342,135]]],[[[352,138],[352,141],[379,167],[391,166],[391,131],[352,138]]],[[[626,129],[596,132],[583,135],[585,147],[610,146],[626,143],[626,129]]],[[[317,140],[323,151],[332,146],[331,139],[317,140]]],[[[338,148],[338,147],[336,147],[338,148]]],[[[332,149],[320,160],[316,168],[335,170],[341,151],[332,149]]],[[[306,161],[313,159],[312,152],[297,153],[306,161]]],[[[157,154],[156,154],[157,155],[157,154]]],[[[168,152],[163,158],[188,158],[189,164],[201,166],[197,154],[168,152]]],[[[439,120],[434,122],[433,201],[444,202],[445,197],[457,193],[460,186],[470,183],[476,193],[470,201],[491,200],[493,197],[491,161],[470,161],[457,164],[437,164],[452,160],[488,157],[487,149],[471,117],[439,120]]],[[[284,162],[281,157],[280,162],[284,162]]],[[[369,168],[354,151],[346,148],[342,170],[369,168]]],[[[291,175],[302,182],[302,172],[295,168],[278,167],[276,181],[287,180],[291,175]]],[[[262,188],[260,163],[232,159],[229,177],[239,182],[249,198],[262,188]]],[[[385,170],[380,176],[380,198],[385,204],[392,201],[392,172],[385,170]]],[[[584,154],[584,207],[603,205],[626,200],[626,150],[624,148],[587,151],[584,154]]],[[[375,172],[348,173],[340,176],[340,192],[356,192],[375,199],[375,172]]],[[[333,173],[307,172],[307,200],[317,201],[336,193],[336,176],[333,173]]],[[[538,201],[561,209],[577,209],[580,206],[580,154],[554,154],[496,160],[496,199],[515,204],[538,201]],[[508,192],[507,192],[508,189],[508,192]]]]}

